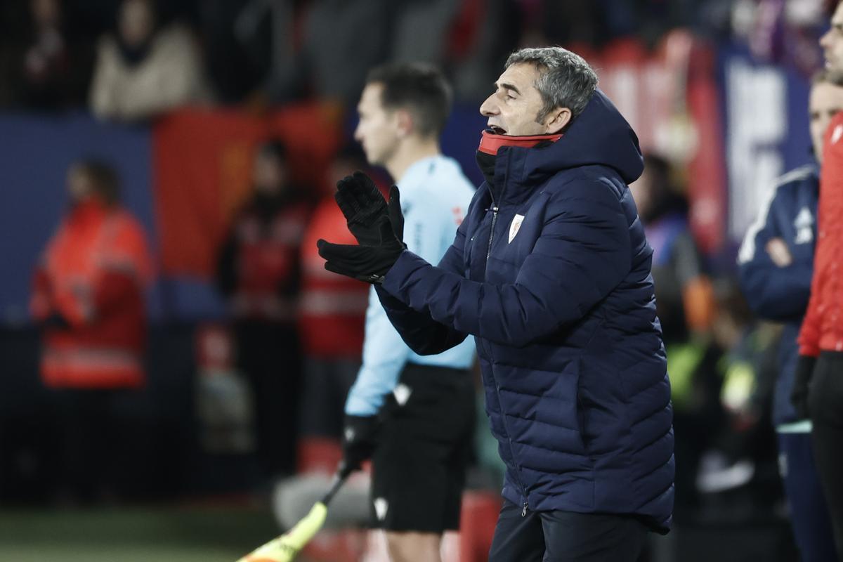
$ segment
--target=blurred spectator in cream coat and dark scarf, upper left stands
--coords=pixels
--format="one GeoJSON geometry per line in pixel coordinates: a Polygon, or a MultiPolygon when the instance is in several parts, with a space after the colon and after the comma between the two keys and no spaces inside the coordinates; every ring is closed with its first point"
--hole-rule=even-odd
{"type": "Polygon", "coordinates": [[[143,120],[210,98],[201,53],[179,24],[158,28],[153,0],[124,0],[116,35],[99,41],[90,105],[104,119],[143,120]]]}

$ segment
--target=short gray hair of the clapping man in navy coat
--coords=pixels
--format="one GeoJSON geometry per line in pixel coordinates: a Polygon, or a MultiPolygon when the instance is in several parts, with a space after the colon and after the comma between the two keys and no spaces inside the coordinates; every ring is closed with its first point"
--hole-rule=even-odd
{"type": "Polygon", "coordinates": [[[571,110],[571,120],[583,113],[597,89],[597,73],[582,56],[562,47],[520,49],[507,58],[505,68],[530,63],[541,72],[535,81],[544,105],[536,116],[545,120],[557,107],[571,110]]]}

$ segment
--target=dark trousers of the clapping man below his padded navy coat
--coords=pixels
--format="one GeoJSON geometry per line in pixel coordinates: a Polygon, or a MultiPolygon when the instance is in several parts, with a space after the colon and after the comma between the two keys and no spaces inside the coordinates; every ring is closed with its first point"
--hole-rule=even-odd
{"type": "Polygon", "coordinates": [[[504,500],[489,562],[635,562],[647,540],[636,517],[527,511],[504,500]]]}

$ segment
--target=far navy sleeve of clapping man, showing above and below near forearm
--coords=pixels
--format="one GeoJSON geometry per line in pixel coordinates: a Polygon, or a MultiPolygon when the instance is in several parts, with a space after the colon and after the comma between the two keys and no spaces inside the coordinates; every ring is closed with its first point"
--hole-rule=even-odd
{"type": "MultiPolygon", "coordinates": [[[[472,205],[474,201],[472,201],[472,205]]],[[[469,213],[471,210],[469,210],[469,213]]],[[[468,221],[463,221],[457,229],[454,243],[439,261],[439,268],[462,276],[464,261],[463,248],[465,246],[465,230],[468,221]]],[[[420,258],[421,259],[421,258],[420,258]]],[[[419,355],[437,355],[459,345],[468,336],[447,324],[437,322],[425,311],[416,311],[393,297],[383,286],[375,286],[381,304],[389,317],[389,321],[398,330],[401,339],[419,355]]]]}

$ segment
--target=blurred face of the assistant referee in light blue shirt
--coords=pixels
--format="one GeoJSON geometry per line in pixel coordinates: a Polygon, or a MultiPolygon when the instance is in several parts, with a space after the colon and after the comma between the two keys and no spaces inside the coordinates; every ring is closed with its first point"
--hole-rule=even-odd
{"type": "Polygon", "coordinates": [[[363,88],[357,104],[360,121],[354,130],[354,140],[362,145],[368,163],[377,166],[389,162],[400,141],[398,112],[384,110],[381,104],[383,91],[381,83],[369,83],[363,88]]]}

